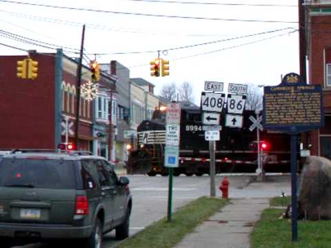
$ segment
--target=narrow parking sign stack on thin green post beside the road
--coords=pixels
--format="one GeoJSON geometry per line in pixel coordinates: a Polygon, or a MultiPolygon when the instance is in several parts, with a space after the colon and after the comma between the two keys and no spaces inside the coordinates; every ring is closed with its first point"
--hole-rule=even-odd
{"type": "Polygon", "coordinates": [[[179,134],[181,128],[181,105],[179,103],[168,104],[165,112],[165,122],[165,151],[163,165],[164,167],[169,168],[167,220],[171,221],[174,167],[178,167],[179,165],[179,134]]]}

